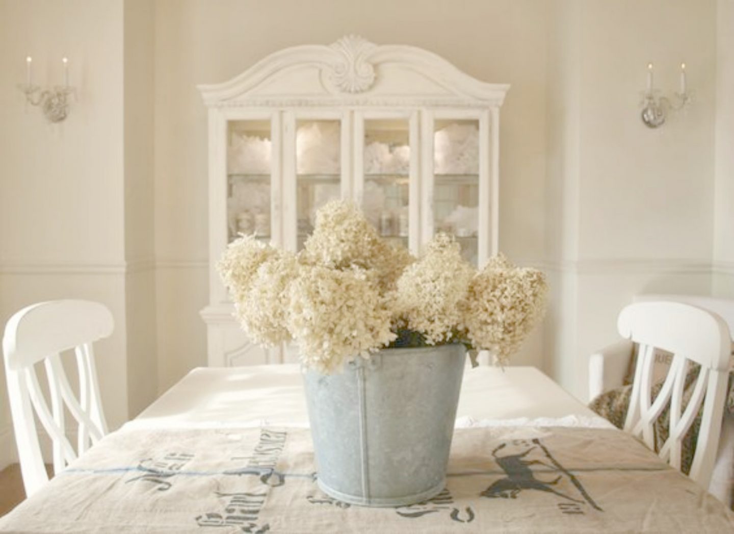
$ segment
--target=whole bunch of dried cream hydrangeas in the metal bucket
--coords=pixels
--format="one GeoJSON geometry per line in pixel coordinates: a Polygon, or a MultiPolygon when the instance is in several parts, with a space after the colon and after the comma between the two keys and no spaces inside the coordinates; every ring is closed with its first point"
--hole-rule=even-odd
{"type": "Polygon", "coordinates": [[[343,201],[319,210],[299,256],[247,236],[217,267],[248,336],[263,345],[294,339],[304,364],[321,372],[368,357],[396,332],[406,346],[462,339],[505,364],[542,317],[548,293],[542,273],[504,256],[476,273],[445,234],[415,261],[343,201]]]}

